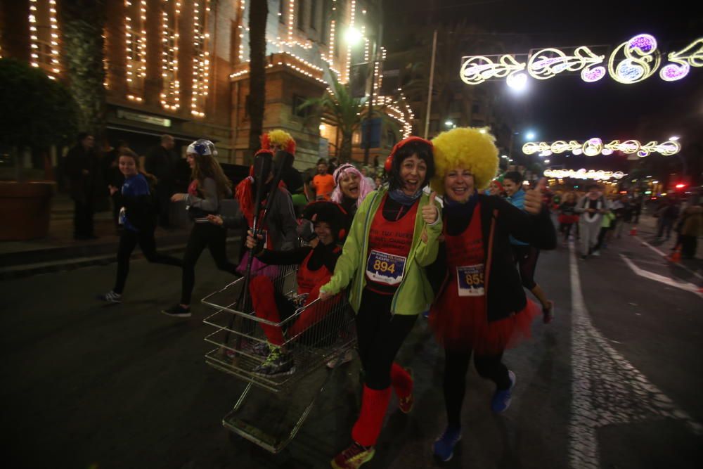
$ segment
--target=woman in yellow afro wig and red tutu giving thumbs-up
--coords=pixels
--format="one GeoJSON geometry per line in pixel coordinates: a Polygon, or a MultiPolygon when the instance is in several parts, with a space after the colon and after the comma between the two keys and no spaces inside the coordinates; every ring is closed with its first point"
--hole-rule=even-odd
{"type": "Polygon", "coordinates": [[[556,233],[542,205],[541,188],[527,191],[524,212],[485,195],[498,169],[498,148],[487,129],[459,128],[439,134],[434,145],[432,189],[443,196],[444,243],[429,278],[443,278],[432,304],[430,326],[444,346],[444,402],[447,426],[432,445],[449,461],[461,438],[461,406],[471,355],[483,378],[496,383],[491,409],[510,405],[515,373],[503,351],[529,337],[539,307],[527,300],[515,269],[510,236],[541,249],[554,249],[556,233]]]}

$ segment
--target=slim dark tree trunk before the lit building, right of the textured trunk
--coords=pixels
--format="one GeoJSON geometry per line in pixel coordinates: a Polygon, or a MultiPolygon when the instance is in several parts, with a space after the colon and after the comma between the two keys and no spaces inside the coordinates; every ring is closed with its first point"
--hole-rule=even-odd
{"type": "Polygon", "coordinates": [[[252,1],[249,11],[249,158],[261,145],[266,103],[266,18],[269,2],[252,1]]]}

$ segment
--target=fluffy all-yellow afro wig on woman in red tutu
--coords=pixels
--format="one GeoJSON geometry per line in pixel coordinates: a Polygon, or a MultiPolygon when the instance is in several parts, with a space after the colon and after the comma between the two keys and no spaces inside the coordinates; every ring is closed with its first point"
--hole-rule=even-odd
{"type": "Polygon", "coordinates": [[[474,186],[488,187],[498,171],[496,137],[488,129],[458,127],[442,132],[432,139],[434,145],[433,191],[444,195],[444,176],[455,168],[468,169],[474,175],[474,186]]]}

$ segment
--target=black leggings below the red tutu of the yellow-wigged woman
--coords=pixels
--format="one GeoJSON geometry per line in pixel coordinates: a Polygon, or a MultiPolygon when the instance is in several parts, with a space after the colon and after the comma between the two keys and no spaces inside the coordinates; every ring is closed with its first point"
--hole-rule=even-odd
{"type": "MultiPolygon", "coordinates": [[[[508,368],[503,365],[503,352],[497,355],[474,355],[476,371],[482,378],[496,383],[498,390],[510,387],[508,368]]],[[[453,428],[461,426],[461,404],[466,392],[466,372],[471,361],[471,349],[463,352],[444,349],[444,405],[447,423],[453,428]]]]}

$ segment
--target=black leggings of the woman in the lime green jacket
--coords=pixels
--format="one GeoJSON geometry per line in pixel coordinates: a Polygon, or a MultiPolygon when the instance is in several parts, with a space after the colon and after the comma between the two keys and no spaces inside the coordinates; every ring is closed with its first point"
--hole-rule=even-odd
{"type": "Polygon", "coordinates": [[[393,295],[363,290],[356,314],[356,338],[366,386],[385,390],[391,385],[391,366],[400,346],[408,336],[417,314],[391,316],[393,295]]]}

